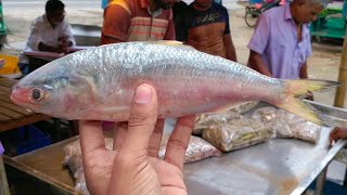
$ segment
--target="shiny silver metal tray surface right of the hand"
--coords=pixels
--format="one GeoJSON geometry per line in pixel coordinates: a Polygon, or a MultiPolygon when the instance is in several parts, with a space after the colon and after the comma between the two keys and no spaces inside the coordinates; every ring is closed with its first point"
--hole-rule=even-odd
{"type": "MultiPolygon", "coordinates": [[[[327,117],[347,119],[344,109],[307,103],[327,117]]],[[[256,108],[266,105],[261,103],[256,108]]],[[[221,157],[188,164],[184,166],[184,179],[189,194],[303,194],[346,144],[346,141],[339,141],[330,148],[327,138],[331,130],[324,127],[317,144],[272,139],[224,153],[221,157]]]]}

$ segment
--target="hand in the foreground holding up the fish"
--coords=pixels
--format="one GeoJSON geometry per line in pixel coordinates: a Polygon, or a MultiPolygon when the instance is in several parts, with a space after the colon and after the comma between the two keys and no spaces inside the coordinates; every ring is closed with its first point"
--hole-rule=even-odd
{"type": "Polygon", "coordinates": [[[194,117],[178,120],[164,160],[157,158],[164,120],[154,127],[156,117],[156,92],[141,84],[128,129],[121,127],[115,133],[113,151],[104,146],[100,121],[81,121],[83,168],[91,194],[187,194],[182,169],[194,117]]]}

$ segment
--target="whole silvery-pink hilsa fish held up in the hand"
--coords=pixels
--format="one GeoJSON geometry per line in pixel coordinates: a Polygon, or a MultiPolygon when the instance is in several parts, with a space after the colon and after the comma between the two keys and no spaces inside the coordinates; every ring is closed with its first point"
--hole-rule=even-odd
{"type": "Polygon", "coordinates": [[[176,41],[95,47],[55,60],[23,78],[11,99],[65,119],[126,121],[136,88],[153,84],[158,117],[226,110],[265,101],[307,120],[324,120],[298,96],[333,86],[324,80],[281,80],[176,41]]]}

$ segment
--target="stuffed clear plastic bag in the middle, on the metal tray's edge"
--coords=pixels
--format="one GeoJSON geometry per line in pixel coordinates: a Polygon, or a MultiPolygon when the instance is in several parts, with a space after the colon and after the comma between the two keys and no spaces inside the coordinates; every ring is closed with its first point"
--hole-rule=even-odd
{"type": "Polygon", "coordinates": [[[223,152],[248,147],[272,136],[271,129],[262,122],[246,118],[217,123],[203,131],[204,140],[223,152]]]}

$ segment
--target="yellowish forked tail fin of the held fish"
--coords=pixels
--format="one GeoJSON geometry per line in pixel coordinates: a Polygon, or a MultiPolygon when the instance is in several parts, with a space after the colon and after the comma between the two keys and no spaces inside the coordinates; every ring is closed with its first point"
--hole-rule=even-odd
{"type": "Polygon", "coordinates": [[[303,102],[301,98],[307,95],[308,91],[326,91],[338,84],[336,81],[329,80],[286,80],[284,98],[274,105],[317,125],[332,126],[330,119],[313,106],[303,102]]]}

